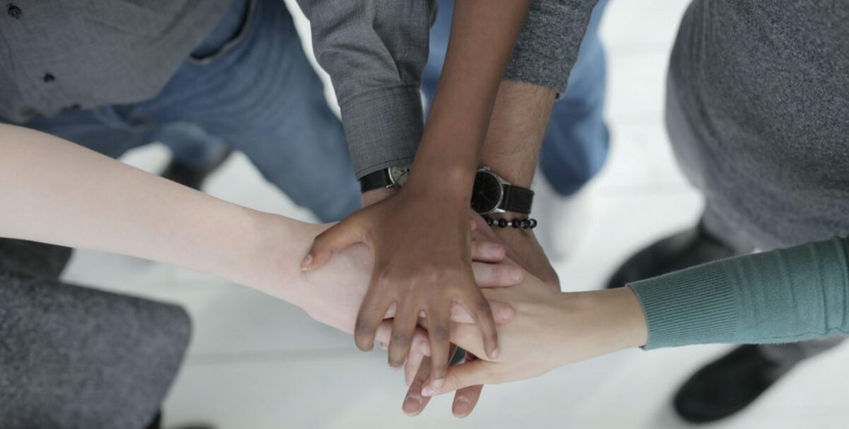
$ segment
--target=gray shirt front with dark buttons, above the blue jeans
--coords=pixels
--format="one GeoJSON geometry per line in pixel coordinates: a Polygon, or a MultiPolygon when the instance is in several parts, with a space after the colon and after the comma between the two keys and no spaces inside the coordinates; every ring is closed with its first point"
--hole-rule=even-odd
{"type": "Polygon", "coordinates": [[[0,117],[150,99],[230,0],[42,0],[0,15],[0,117]],[[52,76],[52,79],[46,76],[52,76]],[[48,82],[49,81],[49,82],[48,82]]]}

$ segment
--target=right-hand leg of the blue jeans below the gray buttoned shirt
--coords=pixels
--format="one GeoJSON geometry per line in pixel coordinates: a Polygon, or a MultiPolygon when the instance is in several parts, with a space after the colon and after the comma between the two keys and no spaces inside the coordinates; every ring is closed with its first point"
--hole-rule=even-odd
{"type": "Polygon", "coordinates": [[[226,141],[323,222],[360,206],[341,122],[280,0],[251,0],[236,37],[188,59],[156,99],[132,110],[226,141]]]}

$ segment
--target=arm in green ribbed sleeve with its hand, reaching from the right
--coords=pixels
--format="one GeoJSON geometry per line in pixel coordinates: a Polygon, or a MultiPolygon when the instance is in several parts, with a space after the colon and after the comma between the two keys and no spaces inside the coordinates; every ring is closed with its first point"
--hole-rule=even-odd
{"type": "MultiPolygon", "coordinates": [[[[522,285],[484,291],[516,309],[514,321],[498,329],[502,355],[452,367],[446,387],[425,387],[423,394],[531,378],[631,347],[847,336],[847,259],[849,239],[835,238],[710,262],[610,291],[558,293],[528,276],[522,285]]],[[[479,341],[473,327],[454,326],[452,342],[480,353],[479,341]]]]}

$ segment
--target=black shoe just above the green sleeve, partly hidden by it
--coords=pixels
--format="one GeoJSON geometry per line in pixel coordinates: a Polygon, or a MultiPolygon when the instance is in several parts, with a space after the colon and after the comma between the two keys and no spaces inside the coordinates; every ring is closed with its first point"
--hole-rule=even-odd
{"type": "Polygon", "coordinates": [[[722,244],[699,223],[695,228],[670,235],[628,258],[610,277],[607,288],[621,287],[638,280],[750,251],[752,249],[732,249],[722,244]]]}

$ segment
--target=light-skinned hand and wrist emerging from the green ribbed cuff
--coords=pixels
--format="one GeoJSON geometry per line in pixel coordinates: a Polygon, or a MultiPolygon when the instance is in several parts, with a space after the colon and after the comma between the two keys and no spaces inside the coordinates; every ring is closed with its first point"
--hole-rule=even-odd
{"type": "MultiPolygon", "coordinates": [[[[509,302],[516,310],[513,321],[498,326],[503,352],[498,359],[482,358],[451,367],[443,387],[422,389],[424,398],[464,387],[536,377],[565,364],[646,342],[643,310],[627,287],[560,293],[526,275],[521,285],[486,290],[484,294],[488,299],[509,302]]],[[[485,356],[480,354],[476,330],[469,328],[453,325],[451,341],[485,356]]]]}

